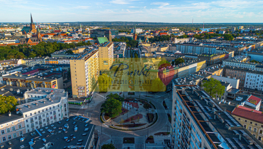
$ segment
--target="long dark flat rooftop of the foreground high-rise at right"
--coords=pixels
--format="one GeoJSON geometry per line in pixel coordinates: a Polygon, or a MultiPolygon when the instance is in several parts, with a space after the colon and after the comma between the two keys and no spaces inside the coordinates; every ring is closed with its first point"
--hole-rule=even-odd
{"type": "Polygon", "coordinates": [[[220,134],[228,146],[234,147],[235,149],[251,149],[249,146],[254,149],[262,149],[263,145],[257,139],[253,140],[251,133],[238,123],[227,111],[224,111],[223,107],[205,91],[195,86],[185,89],[185,93],[182,93],[182,91],[178,91],[178,93],[183,95],[182,97],[184,101],[186,101],[185,103],[187,103],[188,107],[190,106],[189,109],[197,118],[197,123],[200,124],[199,127],[205,130],[205,133],[208,134],[213,143],[221,142],[218,138],[220,134]],[[188,97],[191,100],[189,100],[188,97]],[[203,117],[198,113],[197,108],[201,110],[204,115],[203,117]],[[208,123],[212,124],[212,126],[210,125],[209,127],[208,123]],[[211,127],[216,130],[212,130],[211,127]],[[238,139],[239,134],[242,135],[241,140],[238,139]]]}

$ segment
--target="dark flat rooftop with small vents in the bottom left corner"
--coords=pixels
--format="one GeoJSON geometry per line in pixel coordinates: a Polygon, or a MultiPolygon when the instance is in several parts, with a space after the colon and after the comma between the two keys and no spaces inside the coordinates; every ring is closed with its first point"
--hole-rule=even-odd
{"type": "MultiPolygon", "coordinates": [[[[85,145],[89,145],[92,135],[94,133],[95,126],[93,124],[89,124],[82,122],[82,119],[87,120],[87,118],[82,117],[71,117],[70,119],[60,120],[59,122],[55,122],[53,124],[41,127],[39,129],[33,130],[29,133],[23,134],[23,136],[19,136],[17,138],[8,140],[6,142],[1,143],[4,148],[12,147],[12,148],[20,148],[20,146],[24,146],[24,149],[30,149],[30,143],[34,143],[32,145],[33,149],[39,149],[44,147],[43,144],[51,142],[51,147],[49,149],[62,149],[67,146],[76,146],[78,140],[83,140],[82,145],[78,146],[78,149],[81,147],[82,149],[87,149],[85,145]],[[80,118],[80,120],[78,120],[80,118]],[[75,119],[75,120],[74,120],[75,119]],[[67,121],[69,120],[69,121],[67,121]],[[73,122],[76,122],[73,124],[73,122]],[[68,128],[64,127],[68,124],[68,128]],[[87,126],[86,126],[87,124],[87,126]],[[74,126],[78,125],[77,131],[74,131],[74,126]],[[62,128],[62,129],[59,129],[62,128]],[[89,129],[88,131],[84,131],[85,129],[89,129]],[[67,133],[63,131],[65,129],[67,133]],[[49,131],[52,131],[51,133],[49,131]],[[82,134],[86,133],[87,135],[82,136],[82,134]],[[68,137],[68,140],[75,137],[70,142],[65,141],[65,137],[68,137]],[[23,140],[23,141],[22,141],[23,140]],[[46,142],[44,142],[45,140],[46,142]],[[11,142],[13,145],[9,146],[8,142],[11,142]]],[[[77,147],[77,146],[76,146],[77,147]]]]}

